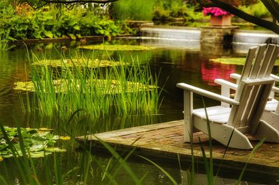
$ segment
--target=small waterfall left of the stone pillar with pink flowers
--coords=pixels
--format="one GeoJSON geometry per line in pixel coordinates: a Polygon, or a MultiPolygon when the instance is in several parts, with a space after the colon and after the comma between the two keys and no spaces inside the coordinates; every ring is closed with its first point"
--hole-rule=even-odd
{"type": "Polygon", "coordinates": [[[144,45],[181,49],[200,48],[199,29],[179,27],[143,27],[140,36],[144,45]]]}

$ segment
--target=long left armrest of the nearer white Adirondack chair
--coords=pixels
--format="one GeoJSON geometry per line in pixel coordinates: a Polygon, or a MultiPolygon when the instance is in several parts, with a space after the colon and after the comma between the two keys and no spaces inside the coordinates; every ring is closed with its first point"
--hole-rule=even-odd
{"type": "Polygon", "coordinates": [[[211,99],[216,99],[220,102],[225,102],[227,104],[232,104],[232,105],[239,105],[239,102],[237,102],[234,99],[231,99],[229,97],[225,97],[225,96],[222,96],[222,95],[218,95],[216,93],[212,93],[209,90],[204,90],[202,88],[197,88],[195,86],[190,86],[187,83],[177,83],[176,87],[181,88],[183,90],[189,90],[189,91],[191,91],[195,94],[202,95],[204,97],[209,97],[211,99]]]}

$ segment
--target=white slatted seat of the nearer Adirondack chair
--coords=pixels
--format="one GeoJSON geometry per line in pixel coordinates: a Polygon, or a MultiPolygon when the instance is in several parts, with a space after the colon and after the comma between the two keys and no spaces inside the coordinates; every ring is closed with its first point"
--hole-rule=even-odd
{"type": "MultiPolygon", "coordinates": [[[[207,115],[209,115],[210,122],[225,124],[229,119],[229,113],[231,112],[231,108],[225,106],[211,106],[206,107],[206,112],[207,115]]],[[[202,120],[206,120],[204,108],[194,109],[193,115],[197,116],[198,118],[202,118],[202,120]]]]}

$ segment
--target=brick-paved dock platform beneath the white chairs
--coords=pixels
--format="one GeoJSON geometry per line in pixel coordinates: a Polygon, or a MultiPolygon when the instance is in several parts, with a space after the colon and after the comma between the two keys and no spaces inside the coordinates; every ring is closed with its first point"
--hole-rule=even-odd
{"type": "MultiPolygon", "coordinates": [[[[103,150],[104,147],[100,140],[109,143],[116,150],[136,150],[133,154],[140,154],[149,157],[149,159],[160,159],[167,162],[178,161],[178,154],[181,161],[190,161],[191,147],[189,143],[183,142],[183,120],[165,122],[159,124],[150,124],[141,127],[132,127],[116,131],[108,131],[89,136],[80,136],[76,139],[86,144],[91,143],[93,150],[103,150]]],[[[258,141],[250,138],[253,146],[258,141]]],[[[213,163],[220,165],[223,159],[226,147],[213,140],[213,163]]],[[[201,146],[209,156],[209,138],[202,132],[194,135],[193,152],[195,160],[202,161],[201,146]],[[201,143],[199,143],[199,139],[201,143]]],[[[251,150],[238,150],[229,148],[223,159],[223,168],[241,170],[248,161],[251,150]]],[[[249,161],[246,172],[261,173],[271,176],[279,176],[279,144],[262,144],[252,159],[249,161]]]]}

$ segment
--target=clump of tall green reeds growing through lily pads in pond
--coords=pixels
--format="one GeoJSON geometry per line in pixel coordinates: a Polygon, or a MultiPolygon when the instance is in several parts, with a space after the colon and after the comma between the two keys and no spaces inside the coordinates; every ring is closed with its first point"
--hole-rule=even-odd
{"type": "MultiPolygon", "coordinates": [[[[33,54],[33,61],[38,57],[33,54]]],[[[121,59],[123,60],[123,59],[121,59]]],[[[120,61],[124,63],[124,61],[120,61]]],[[[89,68],[87,66],[48,67],[31,65],[32,83],[22,89],[33,91],[27,111],[69,118],[75,111],[89,118],[110,115],[151,115],[158,112],[158,79],[148,64],[137,60],[130,65],[89,68]]]]}

